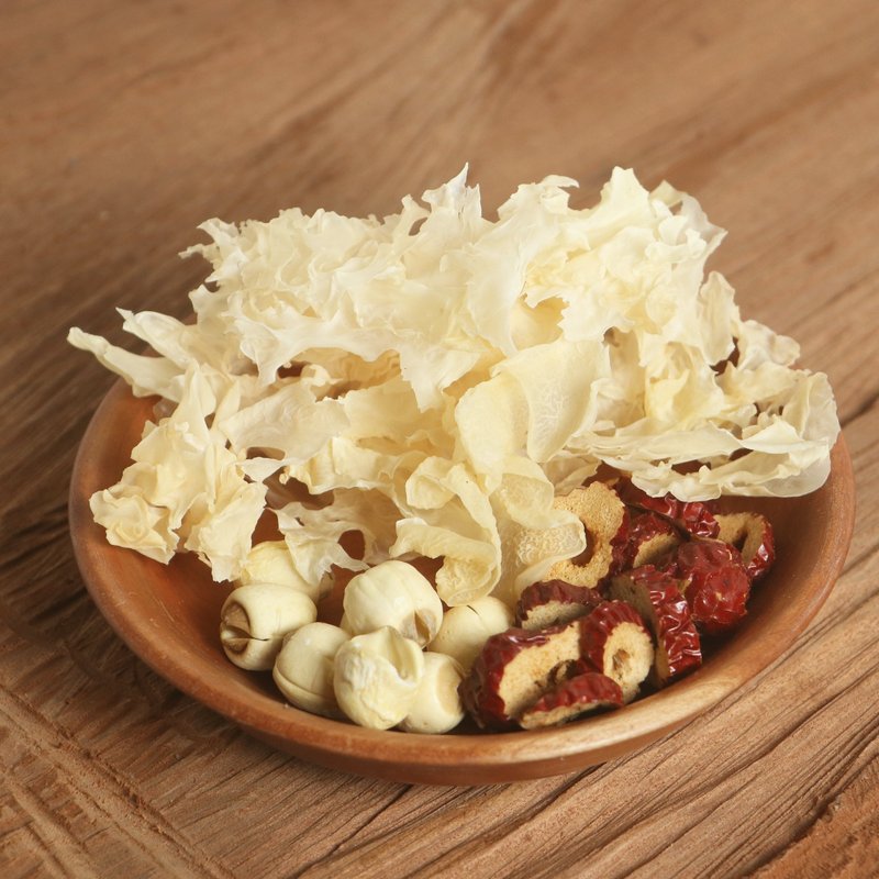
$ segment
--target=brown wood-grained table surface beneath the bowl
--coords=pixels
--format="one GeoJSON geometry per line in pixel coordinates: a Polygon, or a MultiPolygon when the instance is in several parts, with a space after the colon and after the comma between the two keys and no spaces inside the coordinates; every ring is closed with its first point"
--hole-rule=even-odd
{"type": "Polygon", "coordinates": [[[0,9],[0,876],[879,872],[879,4],[7,0],[0,9]],[[613,165],[730,230],[743,313],[826,371],[846,569],[795,647],[627,758],[488,788],[277,754],[91,603],[67,486],[111,377],[69,325],[182,315],[210,216],[364,214],[465,162],[497,205],[613,165]]]}

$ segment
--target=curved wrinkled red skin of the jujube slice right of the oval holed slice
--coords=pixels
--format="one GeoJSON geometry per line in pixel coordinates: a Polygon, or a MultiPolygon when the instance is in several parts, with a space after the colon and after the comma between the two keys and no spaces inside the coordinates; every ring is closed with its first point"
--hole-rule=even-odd
{"type": "Polygon", "coordinates": [[[632,604],[653,632],[656,657],[650,682],[656,687],[702,665],[702,645],[690,607],[671,575],[646,565],[613,578],[610,593],[632,604]]]}

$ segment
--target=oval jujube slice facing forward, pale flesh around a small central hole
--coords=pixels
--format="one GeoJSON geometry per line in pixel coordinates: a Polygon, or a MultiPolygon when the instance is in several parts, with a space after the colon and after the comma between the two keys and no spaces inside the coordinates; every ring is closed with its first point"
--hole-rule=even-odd
{"type": "Polygon", "coordinates": [[[623,601],[604,601],[581,621],[583,660],[615,680],[631,702],[650,672],[653,638],[641,614],[623,601]]]}

